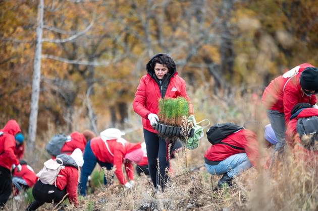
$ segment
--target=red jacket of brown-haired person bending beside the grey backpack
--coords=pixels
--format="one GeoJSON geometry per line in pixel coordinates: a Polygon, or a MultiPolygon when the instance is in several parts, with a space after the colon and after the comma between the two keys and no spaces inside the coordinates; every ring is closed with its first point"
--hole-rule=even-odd
{"type": "Polygon", "coordinates": [[[63,154],[71,155],[76,148],[79,148],[83,153],[86,145],[86,139],[84,134],[75,131],[72,132],[70,136],[72,139],[66,141],[66,143],[61,149],[61,152],[63,154]]]}

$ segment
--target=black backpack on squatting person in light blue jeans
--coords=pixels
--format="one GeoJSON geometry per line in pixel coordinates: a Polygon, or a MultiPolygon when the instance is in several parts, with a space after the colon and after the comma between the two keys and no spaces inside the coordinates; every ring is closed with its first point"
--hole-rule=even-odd
{"type": "Polygon", "coordinates": [[[244,150],[243,148],[236,147],[236,146],[221,142],[228,135],[230,135],[233,132],[236,132],[240,129],[244,129],[244,127],[241,127],[241,126],[234,124],[234,123],[231,123],[231,122],[226,122],[226,123],[222,123],[222,124],[214,124],[210,128],[208,128],[208,130],[206,130],[207,140],[212,145],[222,144],[222,145],[228,145],[236,150],[244,150]]]}

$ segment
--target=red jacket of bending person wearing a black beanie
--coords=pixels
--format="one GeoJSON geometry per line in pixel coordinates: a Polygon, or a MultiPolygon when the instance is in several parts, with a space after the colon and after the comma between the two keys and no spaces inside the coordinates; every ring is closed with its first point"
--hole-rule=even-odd
{"type": "Polygon", "coordinates": [[[299,77],[306,67],[313,66],[303,63],[292,68],[284,75],[274,79],[263,92],[261,101],[264,106],[267,109],[284,113],[286,125],[289,122],[290,111],[296,104],[310,103],[310,105],[314,105],[317,102],[315,95],[309,97],[301,91],[299,77]]]}

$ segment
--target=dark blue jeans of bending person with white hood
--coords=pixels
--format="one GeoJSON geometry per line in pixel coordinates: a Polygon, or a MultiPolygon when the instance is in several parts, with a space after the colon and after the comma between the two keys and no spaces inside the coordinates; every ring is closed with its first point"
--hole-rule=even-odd
{"type": "MultiPolygon", "coordinates": [[[[78,190],[79,190],[79,195],[85,196],[88,176],[91,175],[91,173],[93,172],[96,166],[96,163],[98,163],[100,167],[105,167],[107,170],[111,170],[113,168],[113,164],[105,163],[105,162],[101,162],[97,160],[96,156],[93,154],[92,149],[90,147],[90,140],[85,146],[83,159],[84,159],[84,164],[81,171],[80,181],[78,183],[78,190]]],[[[107,180],[104,177],[104,185],[106,184],[107,184],[107,180]]]]}

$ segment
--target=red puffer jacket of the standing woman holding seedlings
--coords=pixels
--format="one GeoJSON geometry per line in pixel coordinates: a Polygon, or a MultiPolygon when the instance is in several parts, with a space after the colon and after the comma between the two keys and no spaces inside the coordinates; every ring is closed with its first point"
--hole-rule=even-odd
{"type": "MultiPolygon", "coordinates": [[[[185,97],[190,102],[190,99],[186,92],[185,81],[177,76],[176,72],[170,79],[165,98],[177,98],[178,96],[185,97]]],[[[157,83],[150,77],[149,74],[144,75],[140,79],[140,84],[137,87],[137,92],[135,94],[135,99],[133,101],[134,111],[142,117],[142,126],[144,129],[155,132],[147,116],[149,113],[157,114],[158,109],[158,99],[161,99],[161,91],[157,83]]],[[[189,113],[193,113],[193,105],[190,104],[189,113]]]]}

